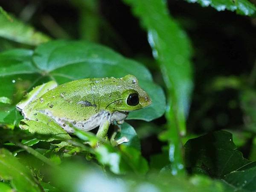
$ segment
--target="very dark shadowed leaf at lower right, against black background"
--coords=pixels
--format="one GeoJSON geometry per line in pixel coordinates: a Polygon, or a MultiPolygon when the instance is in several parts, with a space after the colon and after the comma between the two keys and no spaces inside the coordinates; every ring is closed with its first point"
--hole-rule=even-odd
{"type": "Polygon", "coordinates": [[[224,175],[250,163],[233,143],[232,134],[215,131],[185,144],[186,167],[192,173],[203,173],[211,177],[224,175]]]}

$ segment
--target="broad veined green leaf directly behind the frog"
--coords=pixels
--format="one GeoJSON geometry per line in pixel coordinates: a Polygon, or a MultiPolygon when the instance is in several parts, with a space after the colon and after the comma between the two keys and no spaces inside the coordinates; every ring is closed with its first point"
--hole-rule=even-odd
{"type": "MultiPolygon", "coordinates": [[[[52,41],[40,45],[35,52],[24,49],[2,52],[0,97],[12,99],[15,105],[23,91],[51,79],[63,84],[75,79],[123,77],[127,74],[136,76],[152,99],[151,106],[131,112],[129,118],[150,121],[162,116],[166,105],[163,90],[154,84],[143,65],[106,47],[79,41],[52,41]]],[[[6,122],[3,117],[0,120],[6,122]]]]}

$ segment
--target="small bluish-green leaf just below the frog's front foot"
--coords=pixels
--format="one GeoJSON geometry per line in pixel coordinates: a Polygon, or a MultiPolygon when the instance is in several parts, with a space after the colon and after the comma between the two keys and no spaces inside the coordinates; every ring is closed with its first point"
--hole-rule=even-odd
{"type": "Polygon", "coordinates": [[[122,125],[119,125],[119,127],[121,128],[121,131],[118,132],[115,140],[118,140],[121,137],[126,137],[129,140],[129,142],[122,143],[122,145],[131,146],[140,151],[140,139],[137,136],[137,133],[134,130],[134,128],[126,122],[124,122],[122,125]]]}

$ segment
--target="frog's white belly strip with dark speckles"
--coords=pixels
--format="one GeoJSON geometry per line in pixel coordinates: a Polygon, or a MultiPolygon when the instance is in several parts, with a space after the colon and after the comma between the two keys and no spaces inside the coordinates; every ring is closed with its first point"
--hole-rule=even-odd
{"type": "Polygon", "coordinates": [[[85,121],[76,121],[74,119],[66,119],[63,117],[54,116],[50,111],[44,110],[40,111],[43,114],[46,114],[50,118],[54,119],[55,122],[58,123],[65,131],[68,133],[73,133],[75,128],[78,128],[82,131],[90,131],[96,127],[98,127],[102,122],[108,121],[111,124],[113,121],[122,121],[124,120],[128,113],[123,112],[114,112],[109,113],[108,111],[99,111],[95,115],[91,116],[89,119],[85,121]]]}

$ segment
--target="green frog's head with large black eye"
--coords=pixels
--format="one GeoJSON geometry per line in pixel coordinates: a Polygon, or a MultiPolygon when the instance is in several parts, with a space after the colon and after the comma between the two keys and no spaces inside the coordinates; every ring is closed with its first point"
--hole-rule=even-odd
{"type": "Polygon", "coordinates": [[[127,75],[120,79],[122,85],[121,96],[111,103],[115,111],[134,111],[151,104],[148,94],[139,86],[135,76],[127,75]]]}

